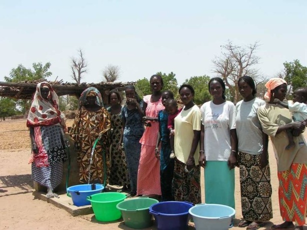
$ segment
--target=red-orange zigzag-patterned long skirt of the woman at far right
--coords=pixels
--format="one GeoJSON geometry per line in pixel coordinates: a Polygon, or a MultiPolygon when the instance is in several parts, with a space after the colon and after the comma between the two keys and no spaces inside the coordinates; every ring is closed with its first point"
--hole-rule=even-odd
{"type": "Polygon", "coordinates": [[[307,164],[292,163],[289,170],[278,172],[277,176],[282,220],[303,226],[307,203],[307,164]]]}

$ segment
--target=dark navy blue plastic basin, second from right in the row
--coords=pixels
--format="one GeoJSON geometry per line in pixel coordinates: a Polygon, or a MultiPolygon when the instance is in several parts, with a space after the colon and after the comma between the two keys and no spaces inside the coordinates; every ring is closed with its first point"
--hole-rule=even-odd
{"type": "Polygon", "coordinates": [[[158,230],[186,230],[191,207],[189,202],[166,201],[152,205],[149,213],[154,216],[158,230]]]}

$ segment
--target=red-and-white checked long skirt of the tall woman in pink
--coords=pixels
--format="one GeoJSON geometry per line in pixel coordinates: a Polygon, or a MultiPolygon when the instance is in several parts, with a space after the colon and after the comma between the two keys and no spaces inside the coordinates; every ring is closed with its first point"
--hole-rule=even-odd
{"type": "Polygon", "coordinates": [[[160,162],[154,154],[155,146],[142,145],[137,171],[137,195],[161,195],[160,162]]]}

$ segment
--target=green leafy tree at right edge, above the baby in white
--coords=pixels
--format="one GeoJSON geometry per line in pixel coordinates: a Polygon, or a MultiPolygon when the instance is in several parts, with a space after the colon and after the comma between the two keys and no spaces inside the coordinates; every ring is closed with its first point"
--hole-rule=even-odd
{"type": "Polygon", "coordinates": [[[307,67],[302,66],[299,60],[294,60],[293,62],[284,62],[284,80],[291,85],[294,91],[298,87],[307,86],[307,67]]]}

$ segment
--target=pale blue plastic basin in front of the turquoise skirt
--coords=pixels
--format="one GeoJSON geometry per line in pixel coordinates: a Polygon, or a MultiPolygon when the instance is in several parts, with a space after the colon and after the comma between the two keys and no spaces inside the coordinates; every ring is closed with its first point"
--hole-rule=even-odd
{"type": "Polygon", "coordinates": [[[228,230],[235,210],[225,205],[200,204],[189,209],[196,230],[228,230]]]}

